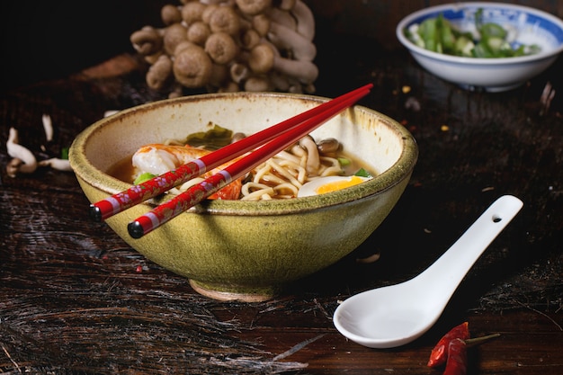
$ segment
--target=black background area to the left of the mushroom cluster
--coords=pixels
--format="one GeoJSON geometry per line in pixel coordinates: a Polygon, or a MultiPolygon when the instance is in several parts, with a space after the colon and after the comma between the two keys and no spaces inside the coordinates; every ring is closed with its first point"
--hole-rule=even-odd
{"type": "Polygon", "coordinates": [[[66,76],[130,51],[129,36],[160,25],[164,1],[10,1],[0,5],[2,86],[66,76]]]}

